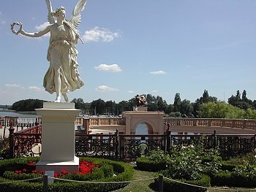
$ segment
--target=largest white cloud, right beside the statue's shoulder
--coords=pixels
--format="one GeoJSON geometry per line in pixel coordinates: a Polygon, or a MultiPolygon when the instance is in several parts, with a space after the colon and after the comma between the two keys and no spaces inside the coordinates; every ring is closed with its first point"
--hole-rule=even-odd
{"type": "Polygon", "coordinates": [[[83,34],[85,42],[112,42],[113,39],[120,37],[118,32],[112,32],[108,28],[94,27],[83,34]]]}

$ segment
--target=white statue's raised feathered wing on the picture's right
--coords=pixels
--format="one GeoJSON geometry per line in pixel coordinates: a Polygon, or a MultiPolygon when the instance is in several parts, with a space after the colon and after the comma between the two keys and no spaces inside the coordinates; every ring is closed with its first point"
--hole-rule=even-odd
{"type": "Polygon", "coordinates": [[[86,3],[87,0],[79,0],[78,4],[75,5],[71,18],[69,20],[69,22],[75,28],[78,28],[79,24],[81,23],[81,12],[83,11],[84,7],[86,7],[86,3]]]}

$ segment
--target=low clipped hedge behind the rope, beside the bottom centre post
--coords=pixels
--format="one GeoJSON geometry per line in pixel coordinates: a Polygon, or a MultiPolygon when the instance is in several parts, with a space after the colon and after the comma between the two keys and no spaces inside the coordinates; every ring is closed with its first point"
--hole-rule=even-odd
{"type": "MultiPolygon", "coordinates": [[[[202,187],[210,187],[211,186],[211,179],[206,174],[200,174],[199,180],[178,180],[182,183],[177,183],[173,180],[168,180],[164,178],[163,184],[164,184],[164,191],[176,191],[176,192],[196,192],[196,191],[207,191],[207,188],[198,188],[192,185],[202,186],[202,187]],[[183,183],[188,183],[190,185],[186,185],[183,183]]],[[[159,185],[159,180],[154,180],[154,184],[159,185]]]]}

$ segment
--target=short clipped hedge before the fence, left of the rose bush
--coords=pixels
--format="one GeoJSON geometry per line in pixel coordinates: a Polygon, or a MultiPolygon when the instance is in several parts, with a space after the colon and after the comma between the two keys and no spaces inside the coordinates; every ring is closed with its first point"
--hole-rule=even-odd
{"type": "Polygon", "coordinates": [[[136,165],[137,165],[138,169],[143,170],[143,171],[157,172],[159,170],[166,169],[165,162],[151,161],[145,157],[137,158],[136,165]]]}

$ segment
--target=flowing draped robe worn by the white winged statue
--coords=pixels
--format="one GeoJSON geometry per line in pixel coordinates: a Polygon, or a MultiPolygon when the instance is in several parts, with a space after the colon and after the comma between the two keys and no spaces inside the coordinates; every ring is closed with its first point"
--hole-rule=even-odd
{"type": "Polygon", "coordinates": [[[84,85],[78,72],[78,50],[75,47],[75,44],[78,42],[78,35],[76,35],[67,24],[64,24],[64,27],[66,31],[59,31],[59,34],[56,37],[53,37],[52,35],[50,37],[50,45],[47,55],[47,59],[50,61],[50,66],[43,81],[43,86],[49,93],[56,92],[54,67],[59,64],[61,93],[75,91],[84,85]]]}

